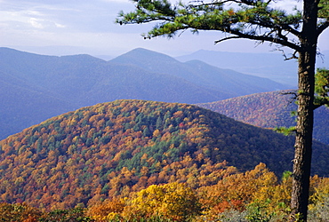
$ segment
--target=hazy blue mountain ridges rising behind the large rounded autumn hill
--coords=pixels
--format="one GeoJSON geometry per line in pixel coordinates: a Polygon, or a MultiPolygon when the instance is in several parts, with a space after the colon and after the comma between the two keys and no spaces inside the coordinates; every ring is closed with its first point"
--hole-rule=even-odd
{"type": "Polygon", "coordinates": [[[0,57],[0,100],[4,104],[0,115],[6,116],[0,119],[6,126],[0,139],[54,115],[115,99],[201,103],[286,89],[267,79],[201,62],[181,63],[143,49],[110,61],[9,48],[0,48],[0,57]]]}

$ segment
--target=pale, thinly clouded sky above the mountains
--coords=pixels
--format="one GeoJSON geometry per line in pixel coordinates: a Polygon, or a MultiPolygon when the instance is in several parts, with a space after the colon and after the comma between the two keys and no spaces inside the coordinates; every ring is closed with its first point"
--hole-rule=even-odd
{"type": "MultiPolygon", "coordinates": [[[[277,0],[292,8],[297,0],[277,0]]],[[[221,52],[271,52],[269,44],[229,40],[214,44],[223,35],[189,31],[173,39],[144,40],[150,24],[115,24],[118,12],[133,11],[129,0],[0,0],[0,47],[46,55],[90,54],[116,57],[135,48],[180,56],[211,50],[221,52]]],[[[319,49],[329,50],[329,30],[320,36],[319,49]]]]}

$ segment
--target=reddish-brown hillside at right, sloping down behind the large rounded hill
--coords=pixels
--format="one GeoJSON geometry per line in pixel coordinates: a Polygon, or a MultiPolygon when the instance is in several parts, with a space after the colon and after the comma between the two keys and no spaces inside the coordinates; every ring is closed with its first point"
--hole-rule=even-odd
{"type": "MultiPolygon", "coordinates": [[[[295,125],[292,112],[297,105],[289,92],[293,90],[256,93],[198,106],[262,128],[290,127],[295,125]]],[[[319,107],[314,115],[314,139],[329,144],[329,108],[319,107]]]]}

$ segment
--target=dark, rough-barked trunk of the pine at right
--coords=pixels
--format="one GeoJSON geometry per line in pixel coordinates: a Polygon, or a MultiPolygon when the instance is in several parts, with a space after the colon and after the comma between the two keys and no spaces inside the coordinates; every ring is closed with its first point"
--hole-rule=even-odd
{"type": "Polygon", "coordinates": [[[293,159],[293,192],[291,221],[307,221],[309,177],[312,157],[315,64],[317,56],[317,1],[304,0],[301,52],[298,67],[298,110],[295,155],[293,159]]]}

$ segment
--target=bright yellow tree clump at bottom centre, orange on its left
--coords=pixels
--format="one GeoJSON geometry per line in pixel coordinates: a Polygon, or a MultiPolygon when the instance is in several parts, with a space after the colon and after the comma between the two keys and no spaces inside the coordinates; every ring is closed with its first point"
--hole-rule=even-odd
{"type": "Polygon", "coordinates": [[[152,185],[132,194],[130,199],[114,199],[93,205],[88,216],[97,220],[114,218],[140,219],[156,218],[185,221],[201,213],[197,194],[190,187],[180,183],[152,185]]]}

